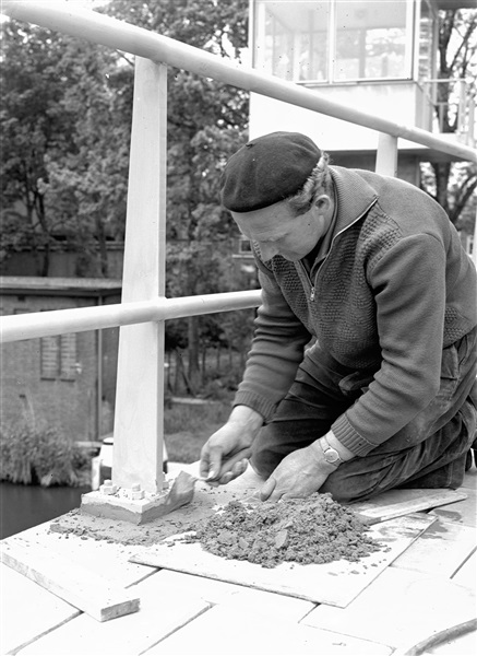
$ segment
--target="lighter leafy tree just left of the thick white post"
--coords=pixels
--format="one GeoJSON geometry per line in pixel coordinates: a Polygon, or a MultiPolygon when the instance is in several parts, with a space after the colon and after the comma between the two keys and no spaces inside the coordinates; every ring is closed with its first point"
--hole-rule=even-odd
{"type": "Polygon", "coordinates": [[[46,156],[45,198],[85,270],[108,277],[107,239],[123,239],[133,73],[117,52],[71,39],[61,66],[71,85],[63,106],[74,117],[74,150],[46,156]]]}

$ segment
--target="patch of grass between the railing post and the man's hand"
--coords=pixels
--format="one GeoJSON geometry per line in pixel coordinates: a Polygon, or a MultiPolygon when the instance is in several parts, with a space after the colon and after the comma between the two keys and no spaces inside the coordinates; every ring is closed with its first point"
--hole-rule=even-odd
{"type": "Polygon", "coordinates": [[[207,438],[230,414],[229,401],[204,405],[172,405],[164,417],[167,455],[171,462],[195,462],[207,438]]]}

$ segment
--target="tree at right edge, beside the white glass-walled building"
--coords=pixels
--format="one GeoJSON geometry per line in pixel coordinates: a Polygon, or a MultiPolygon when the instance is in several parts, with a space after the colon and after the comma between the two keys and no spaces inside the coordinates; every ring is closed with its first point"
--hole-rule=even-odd
{"type": "MultiPolygon", "coordinates": [[[[477,11],[440,12],[437,120],[444,133],[456,133],[463,120],[456,96],[466,80],[467,96],[477,95],[477,11]]],[[[422,166],[421,185],[448,212],[452,223],[469,226],[475,220],[477,167],[470,163],[432,162],[422,166]]]]}

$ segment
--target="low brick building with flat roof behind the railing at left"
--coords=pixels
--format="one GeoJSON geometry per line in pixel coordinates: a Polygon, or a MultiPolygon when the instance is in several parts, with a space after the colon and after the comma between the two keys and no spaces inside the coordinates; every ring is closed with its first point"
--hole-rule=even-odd
{"type": "MultiPolygon", "coordinates": [[[[88,297],[5,294],[0,297],[0,312],[9,315],[94,304],[88,297]]],[[[28,419],[36,425],[55,425],[71,440],[97,440],[98,336],[91,330],[3,344],[2,423],[28,419]]],[[[117,343],[118,329],[103,331],[100,434],[112,430],[117,343]]]]}

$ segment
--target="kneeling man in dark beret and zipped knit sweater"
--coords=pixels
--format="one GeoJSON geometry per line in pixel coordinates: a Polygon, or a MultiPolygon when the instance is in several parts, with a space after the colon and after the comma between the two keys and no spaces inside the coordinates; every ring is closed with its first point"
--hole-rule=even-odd
{"type": "Polygon", "coordinates": [[[274,132],[225,167],[262,305],[201,473],[225,484],[250,458],[272,501],[457,488],[477,419],[475,267],[426,194],[327,160],[274,132]]]}

